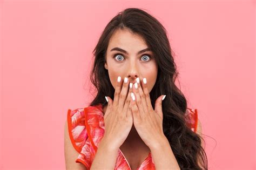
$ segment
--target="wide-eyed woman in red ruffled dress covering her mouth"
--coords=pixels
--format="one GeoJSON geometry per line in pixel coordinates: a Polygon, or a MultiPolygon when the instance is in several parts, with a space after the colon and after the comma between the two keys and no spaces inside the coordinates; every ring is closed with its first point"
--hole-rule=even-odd
{"type": "Polygon", "coordinates": [[[197,110],[174,84],[177,66],[163,25],[144,10],[125,9],[93,52],[97,95],[90,106],[68,111],[66,168],[207,169],[197,110]]]}

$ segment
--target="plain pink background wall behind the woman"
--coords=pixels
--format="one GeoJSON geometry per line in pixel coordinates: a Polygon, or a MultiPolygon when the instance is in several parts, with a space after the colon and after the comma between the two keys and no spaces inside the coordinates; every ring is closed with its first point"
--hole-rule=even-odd
{"type": "Polygon", "coordinates": [[[209,169],[256,168],[255,2],[70,0],[1,1],[0,169],[65,169],[67,111],[91,101],[92,50],[131,7],[168,31],[209,169]]]}

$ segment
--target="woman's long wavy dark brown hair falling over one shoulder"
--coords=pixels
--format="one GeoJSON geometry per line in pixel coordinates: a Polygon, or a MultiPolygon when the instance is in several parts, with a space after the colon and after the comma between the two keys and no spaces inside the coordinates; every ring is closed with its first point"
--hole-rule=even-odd
{"type": "Polygon", "coordinates": [[[104,67],[106,50],[114,31],[127,29],[141,35],[153,52],[158,65],[156,84],[150,92],[151,104],[161,94],[166,94],[163,100],[163,130],[169,140],[172,151],[181,169],[208,169],[207,156],[201,142],[204,140],[191,131],[185,122],[187,101],[184,94],[174,84],[178,76],[166,30],[156,18],[138,8],[127,8],[119,12],[106,25],[98,43],[93,50],[95,56],[93,69],[90,73],[92,84],[96,87],[96,97],[90,106],[107,105],[105,96],[113,99],[114,88],[109,73],[104,67]],[[161,82],[161,83],[160,83],[161,82]],[[199,165],[200,164],[200,165],[199,165]]]}

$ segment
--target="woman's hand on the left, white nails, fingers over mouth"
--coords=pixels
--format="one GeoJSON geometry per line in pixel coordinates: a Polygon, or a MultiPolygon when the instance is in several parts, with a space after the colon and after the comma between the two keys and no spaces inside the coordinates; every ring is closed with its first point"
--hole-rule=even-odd
{"type": "Polygon", "coordinates": [[[120,76],[119,79],[120,82],[117,81],[114,92],[114,100],[107,97],[109,101],[104,114],[105,132],[103,137],[108,145],[111,145],[109,147],[116,149],[124,143],[133,125],[132,112],[129,109],[132,88],[130,88],[128,78],[125,78],[127,79],[126,83],[120,76]]]}

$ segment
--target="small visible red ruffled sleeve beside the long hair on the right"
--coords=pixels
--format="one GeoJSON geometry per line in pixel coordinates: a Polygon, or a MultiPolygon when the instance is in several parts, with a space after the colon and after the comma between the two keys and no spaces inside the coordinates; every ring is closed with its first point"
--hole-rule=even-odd
{"type": "Polygon", "coordinates": [[[190,127],[191,130],[196,133],[198,124],[197,109],[187,108],[187,112],[185,113],[185,120],[187,126],[190,127]]]}

